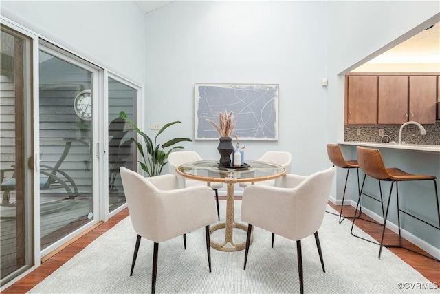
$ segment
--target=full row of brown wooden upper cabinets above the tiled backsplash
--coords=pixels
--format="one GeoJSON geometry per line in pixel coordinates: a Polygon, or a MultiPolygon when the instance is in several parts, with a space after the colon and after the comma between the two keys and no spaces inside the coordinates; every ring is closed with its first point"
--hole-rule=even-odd
{"type": "Polygon", "coordinates": [[[346,76],[346,125],[436,123],[439,73],[352,73],[346,76]]]}

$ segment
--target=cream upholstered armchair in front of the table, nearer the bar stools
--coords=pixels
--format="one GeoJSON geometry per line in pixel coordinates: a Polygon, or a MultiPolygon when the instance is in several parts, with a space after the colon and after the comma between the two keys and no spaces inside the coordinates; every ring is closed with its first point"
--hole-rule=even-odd
{"type": "Polygon", "coordinates": [[[241,220],[248,222],[244,269],[252,226],[256,226],[296,241],[301,293],[304,292],[301,239],[315,235],[325,272],[318,229],[325,215],[334,174],[335,167],[330,167],[307,177],[286,174],[281,178],[280,187],[250,185],[245,188],[241,203],[241,220]]]}

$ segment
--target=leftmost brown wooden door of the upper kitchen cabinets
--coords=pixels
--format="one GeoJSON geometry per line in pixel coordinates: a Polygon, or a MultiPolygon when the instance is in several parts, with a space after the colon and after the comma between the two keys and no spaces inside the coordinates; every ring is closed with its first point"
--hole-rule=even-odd
{"type": "Polygon", "coordinates": [[[347,123],[377,123],[377,76],[349,76],[347,89],[347,123]]]}

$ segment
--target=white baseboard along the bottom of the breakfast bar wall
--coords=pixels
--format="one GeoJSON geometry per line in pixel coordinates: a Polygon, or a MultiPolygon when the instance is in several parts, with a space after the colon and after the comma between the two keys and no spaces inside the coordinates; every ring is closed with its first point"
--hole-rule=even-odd
{"type": "MultiPolygon", "coordinates": [[[[356,207],[356,204],[358,204],[358,202],[351,200],[352,207],[356,207]]],[[[367,209],[366,207],[362,207],[362,213],[365,213],[367,216],[369,216],[370,218],[373,218],[373,220],[375,220],[376,222],[379,222],[380,224],[384,223],[384,218],[382,218],[382,216],[379,216],[377,213],[375,213],[374,211],[371,211],[370,209],[367,209]]],[[[397,235],[399,234],[399,227],[397,227],[397,224],[394,224],[393,222],[390,222],[389,220],[387,220],[386,227],[388,229],[390,229],[391,231],[393,231],[394,233],[396,233],[397,235]]],[[[429,244],[428,242],[426,242],[424,240],[421,240],[417,236],[412,235],[412,233],[410,233],[404,229],[401,229],[400,233],[401,233],[402,238],[405,238],[406,240],[408,240],[412,244],[415,244],[416,246],[418,246],[420,249],[423,249],[424,251],[426,251],[426,253],[429,253],[430,255],[434,256],[434,258],[437,258],[440,260],[440,249],[432,246],[431,244],[429,244]]]]}

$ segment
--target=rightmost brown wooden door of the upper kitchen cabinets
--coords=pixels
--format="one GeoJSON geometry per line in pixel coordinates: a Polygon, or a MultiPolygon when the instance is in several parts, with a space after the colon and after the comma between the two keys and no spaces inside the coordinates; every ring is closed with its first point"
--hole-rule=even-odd
{"type": "Polygon", "coordinates": [[[437,101],[437,76],[410,76],[409,120],[418,123],[435,123],[437,101]]]}

